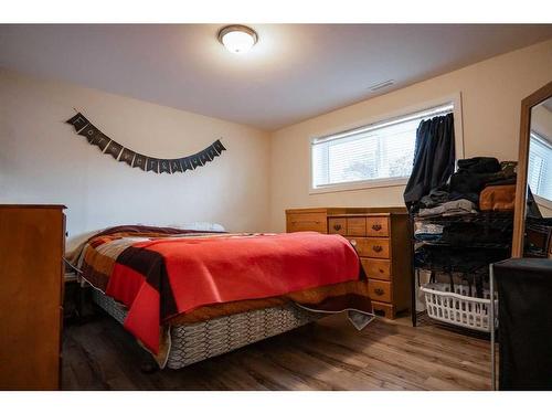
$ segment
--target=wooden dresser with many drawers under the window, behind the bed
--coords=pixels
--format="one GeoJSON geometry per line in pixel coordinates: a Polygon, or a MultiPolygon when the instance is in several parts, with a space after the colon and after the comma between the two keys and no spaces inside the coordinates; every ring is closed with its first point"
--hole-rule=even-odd
{"type": "Polygon", "coordinates": [[[394,319],[410,308],[412,247],[406,209],[286,210],[286,231],[341,234],[360,256],[374,311],[394,319]]]}

